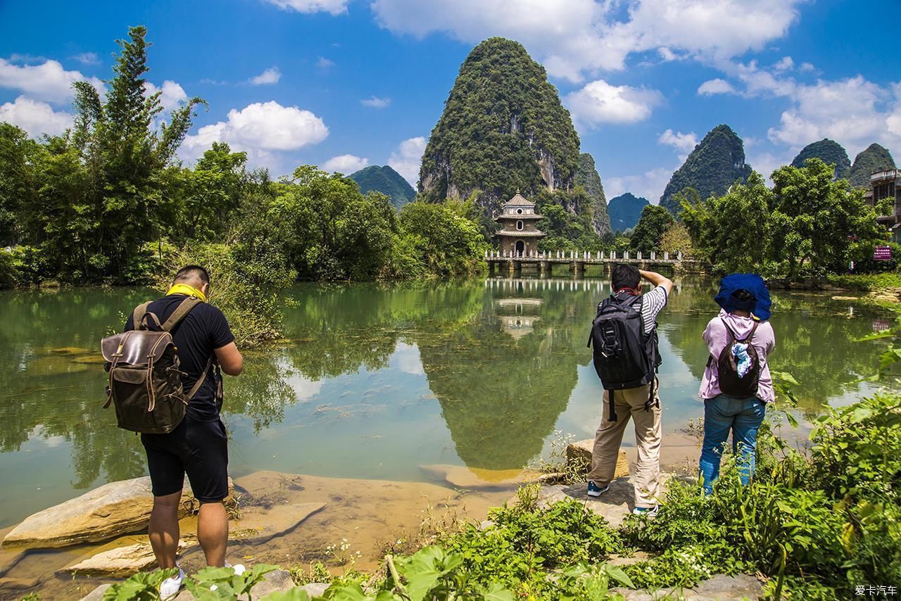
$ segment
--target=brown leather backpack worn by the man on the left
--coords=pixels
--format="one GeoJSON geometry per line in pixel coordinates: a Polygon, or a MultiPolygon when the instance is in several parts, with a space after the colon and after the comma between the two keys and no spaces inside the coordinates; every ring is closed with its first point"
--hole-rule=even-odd
{"type": "Polygon", "coordinates": [[[165,434],[175,430],[185,418],[187,403],[203,385],[213,356],[194,387],[185,394],[181,378],[186,374],[178,369],[178,350],[170,332],[201,302],[187,297],[162,324],[156,314],[148,313],[150,302],[138,305],[132,314],[134,330],[100,341],[109,372],[104,409],[110,403],[115,405],[120,428],[165,434]]]}

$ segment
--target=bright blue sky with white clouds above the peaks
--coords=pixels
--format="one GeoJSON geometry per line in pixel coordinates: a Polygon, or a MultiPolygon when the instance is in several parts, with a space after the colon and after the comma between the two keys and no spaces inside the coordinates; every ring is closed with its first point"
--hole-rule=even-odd
{"type": "Polygon", "coordinates": [[[824,137],[851,160],[874,141],[901,159],[899,11],[901,0],[0,0],[0,121],[63,132],[72,82],[103,90],[115,41],[140,24],[150,91],[168,109],[209,104],[185,164],[226,141],[274,176],[389,164],[415,187],[460,64],[504,36],[547,70],[607,198],[657,203],[720,123],[767,176],[824,137]]]}

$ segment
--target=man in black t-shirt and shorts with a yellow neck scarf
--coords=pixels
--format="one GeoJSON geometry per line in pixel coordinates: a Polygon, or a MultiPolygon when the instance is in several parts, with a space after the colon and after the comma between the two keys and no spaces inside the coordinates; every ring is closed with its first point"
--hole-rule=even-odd
{"type": "MultiPolygon", "coordinates": [[[[147,312],[164,322],[187,296],[201,301],[209,294],[210,277],[206,269],[189,265],[178,271],[168,294],[153,301],[147,312]]],[[[135,324],[129,317],[125,330],[135,324]]],[[[234,343],[234,335],[223,312],[206,302],[198,303],[172,331],[178,350],[185,390],[190,390],[198,378],[205,378],[195,396],[187,404],[185,419],[168,434],[141,434],[147,452],[150,482],[153,487],[153,512],[150,514],[150,545],[157,556],[159,568],[177,567],[178,505],[185,474],[194,496],[200,502],[197,518],[197,541],[203,548],[206,563],[221,567],[225,564],[228,544],[228,515],[223,500],[228,496],[228,439],[219,418],[217,388],[219,382],[213,369],[207,368],[213,356],[221,369],[237,376],[243,369],[241,352],[234,343]]],[[[236,567],[237,569],[237,567],[236,567]]],[[[166,598],[177,593],[184,572],[168,578],[159,588],[166,598]]]]}

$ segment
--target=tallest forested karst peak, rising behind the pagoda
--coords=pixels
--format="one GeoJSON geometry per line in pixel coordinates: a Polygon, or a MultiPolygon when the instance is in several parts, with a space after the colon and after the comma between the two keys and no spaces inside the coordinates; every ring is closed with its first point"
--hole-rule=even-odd
{"type": "Polygon", "coordinates": [[[522,44],[481,42],[460,66],[423,153],[419,189],[427,200],[479,191],[487,213],[520,189],[569,189],[578,134],[544,68],[522,44]]]}

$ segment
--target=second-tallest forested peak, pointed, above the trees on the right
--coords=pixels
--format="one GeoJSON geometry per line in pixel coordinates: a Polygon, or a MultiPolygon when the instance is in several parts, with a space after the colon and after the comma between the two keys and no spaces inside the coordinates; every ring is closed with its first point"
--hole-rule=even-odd
{"type": "Polygon", "coordinates": [[[728,125],[717,125],[673,173],[660,196],[660,206],[678,214],[679,206],[674,196],[685,188],[695,188],[701,198],[723,195],[736,180],[744,182],[749,175],[751,166],[744,162],[742,139],[728,125]]]}

